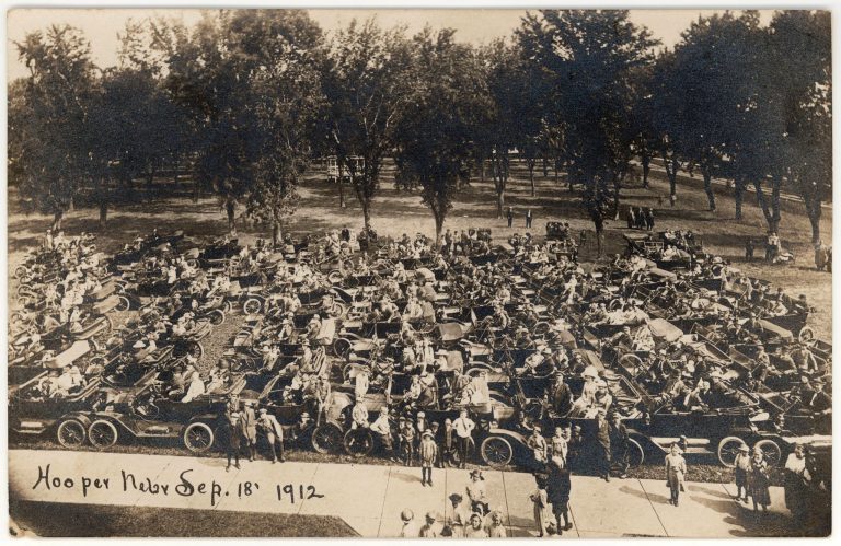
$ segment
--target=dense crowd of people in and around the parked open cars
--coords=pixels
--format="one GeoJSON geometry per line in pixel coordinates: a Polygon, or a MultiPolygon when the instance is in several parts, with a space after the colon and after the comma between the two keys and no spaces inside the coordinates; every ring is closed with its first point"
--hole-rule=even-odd
{"type": "MultiPolygon", "coordinates": [[[[50,235],[35,262],[62,264],[60,297],[36,311],[38,318],[15,340],[27,349],[45,320],[55,315],[72,324],[73,313],[84,312],[84,295],[102,288],[104,275],[85,237],[50,235]]],[[[349,403],[333,418],[346,444],[372,438],[384,456],[420,466],[423,486],[433,486],[436,467],[475,462],[492,428],[520,433],[528,456],[511,463],[537,477],[531,500],[535,520],[543,522],[540,533],[561,534],[569,523],[569,474],[625,477],[632,449],[625,422],[645,420],[652,400],[704,413],[748,404],[746,392],[774,393],[796,402],[774,416],[780,433],[791,415],[809,417],[818,431],[831,419],[831,355],[768,326],[776,317],[807,315],[805,298],[792,299],[739,274],[704,253],[691,232],[648,237],[658,244],[631,247],[596,267],[564,251],[574,245],[558,249],[527,234],[494,247],[479,230],[448,231],[440,247],[405,234],[379,241],[369,253],[353,251],[349,232],[332,232],[306,249],[285,241],[283,259],[262,241],[242,247],[222,241],[215,244],[233,252],[214,268],[175,249],[149,254],[133,264],[133,275],[137,286],[157,291],[129,323],[129,347],[143,353],[140,362],[157,361],[162,339],[189,337],[199,327],[197,314],[224,307],[233,287],[251,278],[262,303],[238,334],[247,350],[240,347],[201,369],[187,353],[160,390],[191,402],[249,370],[277,379],[275,402],[304,408],[295,422],[279,422],[266,400],[232,397],[222,416],[229,467],[240,464],[242,450],[254,460],[258,439],[273,461],[283,462],[285,442],[311,433],[331,410],[331,393],[341,393],[349,403]],[[664,330],[667,320],[677,335],[664,330]],[[687,337],[690,332],[694,337],[687,337]],[[337,351],[335,340],[348,333],[359,342],[337,351]],[[629,355],[634,359],[622,358],[629,355]],[[619,375],[649,402],[627,399],[619,375]],[[520,381],[537,392],[512,391],[520,381]],[[492,409],[500,397],[512,408],[502,423],[492,409]],[[527,410],[534,407],[530,402],[539,411],[527,410]]],[[[140,243],[125,252],[139,251],[140,243]]],[[[126,339],[105,342],[110,349],[125,346],[126,339]]],[[[44,388],[54,396],[99,372],[71,365],[59,376],[51,372],[44,388]]],[[[687,473],[683,451],[677,443],[665,458],[675,506],[687,473]]],[[[756,507],[764,509],[761,476],[770,471],[763,457],[753,450],[737,460],[736,473],[739,491],[749,489],[756,507]]],[[[477,480],[481,474],[472,483],[477,480]]],[[[767,478],[764,484],[767,491],[767,478]]],[[[470,513],[460,520],[460,532],[504,533],[492,531],[493,510],[469,490],[470,513]]]]}

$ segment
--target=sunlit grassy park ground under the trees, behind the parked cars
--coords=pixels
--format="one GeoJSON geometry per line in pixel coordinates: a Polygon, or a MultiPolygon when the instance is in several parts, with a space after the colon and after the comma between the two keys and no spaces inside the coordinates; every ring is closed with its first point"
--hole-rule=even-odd
{"type": "MultiPolygon", "coordinates": [[[[494,240],[504,241],[514,233],[525,233],[523,214],[527,208],[534,216],[534,235],[545,233],[546,221],[568,221],[575,232],[592,230],[592,223],[581,209],[577,193],[569,193],[564,178],[556,183],[552,173],[542,176],[535,170],[537,196],[531,196],[527,171],[523,165],[515,164],[506,191],[506,206],[514,207],[516,219],[514,228],[507,228],[504,219],[496,218],[496,196],[493,183],[473,181],[456,199],[447,218],[446,229],[465,230],[469,228],[489,228],[494,240]]],[[[420,202],[417,193],[398,191],[393,185],[393,171],[387,166],[381,176],[381,189],[373,200],[371,223],[380,235],[400,236],[403,233],[414,235],[424,233],[435,235],[431,212],[420,202]]],[[[791,266],[769,266],[761,260],[745,260],[745,242],[753,239],[757,255],[763,254],[762,241],[767,231],[762,212],[757,207],[753,194],[745,197],[742,220],[736,221],[735,205],[729,190],[724,186],[715,188],[718,202],[717,212],[706,210],[706,195],[699,177],[681,176],[678,181],[678,199],[672,207],[668,199],[668,182],[661,172],[653,171],[650,187],[638,185],[622,191],[622,207],[634,205],[652,207],[656,218],[656,229],[692,230],[700,234],[705,248],[730,260],[734,266],[752,277],[765,279],[774,286],[783,287],[791,295],[805,294],[817,307],[809,324],[818,336],[830,340],[832,332],[832,280],[831,275],[816,271],[811,231],[803,204],[783,201],[780,236],[783,246],[797,256],[791,266]]],[[[99,230],[97,211],[93,208],[77,208],[68,213],[64,228],[68,234],[80,231],[96,233],[97,244],[105,252],[114,252],[136,236],[151,232],[153,228],[162,233],[183,230],[187,235],[217,236],[227,232],[223,210],[215,198],[206,197],[194,201],[188,197],[189,184],[183,190],[173,191],[171,197],[160,197],[153,202],[131,202],[117,205],[108,214],[107,229],[99,230]]],[[[301,200],[298,211],[292,216],[286,230],[295,235],[307,233],[320,234],[325,230],[349,228],[358,232],[362,228],[362,214],[352,188],[345,191],[347,206],[338,206],[338,188],[324,182],[324,175],[313,172],[300,190],[301,200]]],[[[24,253],[41,241],[49,226],[50,218],[44,214],[23,214],[14,190],[9,193],[9,270],[13,269],[24,253]]],[[[246,219],[238,219],[238,231],[243,242],[255,237],[268,237],[267,230],[250,225],[246,219]]],[[[624,248],[622,234],[629,230],[623,219],[608,222],[606,232],[607,252],[610,254],[624,248]]],[[[832,210],[823,208],[821,234],[826,244],[831,244],[832,210]]],[[[592,241],[590,234],[589,241],[592,241]]],[[[585,259],[592,259],[592,245],[583,249],[585,259]]],[[[10,302],[13,306],[14,302],[10,302]]]]}

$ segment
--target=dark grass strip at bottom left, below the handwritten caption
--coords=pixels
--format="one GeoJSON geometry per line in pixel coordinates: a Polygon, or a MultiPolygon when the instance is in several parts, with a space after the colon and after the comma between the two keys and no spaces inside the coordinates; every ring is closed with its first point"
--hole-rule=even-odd
{"type": "Polygon", "coordinates": [[[321,515],[26,501],[12,501],[9,514],[24,536],[358,536],[339,518],[321,515]]]}

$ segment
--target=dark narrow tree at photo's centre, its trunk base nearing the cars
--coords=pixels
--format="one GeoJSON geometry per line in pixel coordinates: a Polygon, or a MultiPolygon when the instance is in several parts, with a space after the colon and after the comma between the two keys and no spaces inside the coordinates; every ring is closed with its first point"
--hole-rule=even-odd
{"type": "Polygon", "coordinates": [[[420,185],[439,247],[459,182],[470,176],[472,136],[488,108],[476,54],[456,43],[453,34],[427,27],[414,36],[413,91],[396,132],[398,170],[420,185]]]}

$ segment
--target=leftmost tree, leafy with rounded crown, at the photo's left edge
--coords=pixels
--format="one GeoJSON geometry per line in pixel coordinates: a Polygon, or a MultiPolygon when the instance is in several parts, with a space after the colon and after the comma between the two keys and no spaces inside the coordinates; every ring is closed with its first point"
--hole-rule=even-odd
{"type": "Polygon", "coordinates": [[[26,210],[53,214],[60,229],[82,181],[92,174],[90,107],[95,93],[90,45],[81,31],[50,26],[15,44],[30,71],[10,105],[19,190],[26,210]]]}

